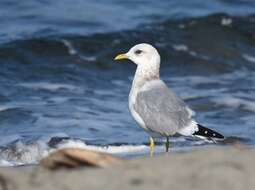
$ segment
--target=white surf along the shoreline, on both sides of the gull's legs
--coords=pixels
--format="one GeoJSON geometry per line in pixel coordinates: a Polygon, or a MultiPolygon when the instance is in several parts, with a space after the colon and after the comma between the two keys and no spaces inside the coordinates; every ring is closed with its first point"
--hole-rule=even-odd
{"type": "MultiPolygon", "coordinates": [[[[187,141],[185,138],[171,138],[171,143],[187,144],[193,146],[201,146],[211,144],[212,141],[192,140],[187,141]]],[[[160,154],[165,151],[164,142],[159,141],[155,146],[155,153],[160,154]]],[[[0,166],[17,166],[27,164],[38,164],[39,161],[50,153],[63,148],[81,148],[85,150],[98,151],[109,153],[121,157],[133,157],[138,155],[149,154],[149,145],[144,144],[111,144],[111,145],[96,145],[87,144],[84,140],[70,139],[69,137],[52,137],[49,140],[37,140],[34,142],[25,142],[15,140],[4,146],[0,146],[0,166]]],[[[171,151],[187,151],[187,146],[172,147],[171,151]]]]}

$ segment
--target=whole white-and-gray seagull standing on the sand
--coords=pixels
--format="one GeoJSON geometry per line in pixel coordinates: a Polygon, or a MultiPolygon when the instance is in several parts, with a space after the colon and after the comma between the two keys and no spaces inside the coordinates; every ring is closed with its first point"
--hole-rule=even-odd
{"type": "Polygon", "coordinates": [[[198,124],[194,111],[160,79],[160,55],[150,44],[141,43],[114,60],[128,59],[137,65],[129,93],[131,115],[150,135],[150,155],[154,154],[154,139],[179,134],[207,139],[224,139],[220,133],[198,124]]]}

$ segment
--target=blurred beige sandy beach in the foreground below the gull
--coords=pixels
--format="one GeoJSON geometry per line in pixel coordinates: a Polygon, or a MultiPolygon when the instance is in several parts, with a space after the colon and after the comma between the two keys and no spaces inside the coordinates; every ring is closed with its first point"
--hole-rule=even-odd
{"type": "Polygon", "coordinates": [[[1,168],[0,189],[254,189],[255,151],[244,148],[169,153],[108,168],[1,168]]]}

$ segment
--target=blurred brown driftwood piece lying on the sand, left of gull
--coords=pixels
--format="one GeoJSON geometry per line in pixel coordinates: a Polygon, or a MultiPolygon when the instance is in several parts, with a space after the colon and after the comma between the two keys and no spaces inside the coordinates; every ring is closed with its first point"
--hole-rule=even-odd
{"type": "Polygon", "coordinates": [[[84,150],[80,148],[66,148],[58,150],[41,160],[41,165],[48,169],[78,168],[81,166],[107,167],[119,164],[123,160],[110,154],[84,150]]]}

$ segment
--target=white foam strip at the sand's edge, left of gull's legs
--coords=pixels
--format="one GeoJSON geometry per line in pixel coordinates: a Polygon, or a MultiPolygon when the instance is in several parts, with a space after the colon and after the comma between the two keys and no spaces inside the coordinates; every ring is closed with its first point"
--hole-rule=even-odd
{"type": "Polygon", "coordinates": [[[81,148],[116,155],[142,153],[149,150],[148,146],[145,145],[96,146],[87,145],[81,140],[64,140],[55,148],[50,148],[47,141],[42,140],[32,144],[19,141],[8,149],[0,150],[0,166],[37,164],[51,152],[63,148],[81,148]]]}

